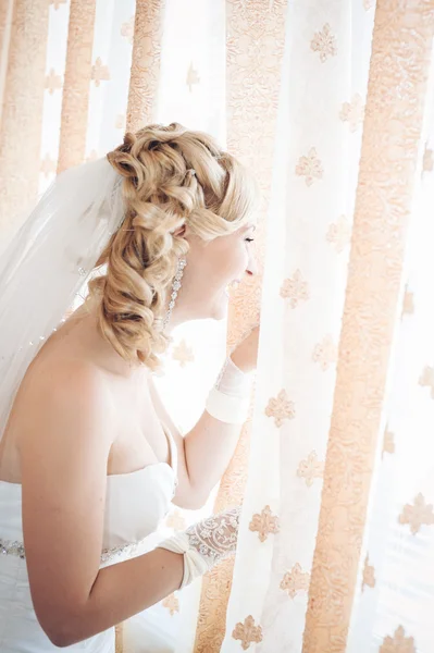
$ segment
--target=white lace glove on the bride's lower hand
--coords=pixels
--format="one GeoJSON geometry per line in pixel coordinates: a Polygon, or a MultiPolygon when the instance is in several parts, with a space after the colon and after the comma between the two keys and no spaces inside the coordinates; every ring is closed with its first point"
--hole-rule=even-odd
{"type": "Polygon", "coordinates": [[[240,506],[207,517],[159,544],[184,554],[184,577],[179,590],[211,567],[235,553],[240,506]]]}

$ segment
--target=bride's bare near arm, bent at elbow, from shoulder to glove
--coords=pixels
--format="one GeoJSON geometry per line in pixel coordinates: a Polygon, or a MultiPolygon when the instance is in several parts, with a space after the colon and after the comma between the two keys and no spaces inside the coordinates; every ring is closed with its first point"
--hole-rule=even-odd
{"type": "Polygon", "coordinates": [[[99,570],[111,446],[104,385],[82,364],[27,383],[20,406],[23,530],[32,599],[58,646],[179,588],[183,555],[158,549],[99,570]]]}

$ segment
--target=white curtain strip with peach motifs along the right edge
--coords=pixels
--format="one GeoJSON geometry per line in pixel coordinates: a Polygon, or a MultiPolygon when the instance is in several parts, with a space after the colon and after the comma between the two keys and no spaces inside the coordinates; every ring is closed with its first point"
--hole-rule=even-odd
{"type": "MultiPolygon", "coordinates": [[[[386,19],[384,13],[383,16],[386,19]]],[[[349,623],[347,650],[351,653],[371,650],[384,653],[387,648],[399,650],[400,646],[413,653],[430,651],[433,645],[432,5],[413,4],[411,13],[405,15],[401,11],[398,17],[393,28],[399,29],[400,38],[395,48],[390,48],[395,59],[390,70],[399,71],[401,76],[395,87],[408,89],[399,95],[397,104],[407,101],[411,109],[399,112],[401,131],[396,132],[394,138],[404,144],[400,151],[406,162],[401,162],[400,169],[410,175],[407,207],[400,204],[405,197],[397,186],[394,198],[399,199],[402,218],[406,212],[409,214],[409,227],[386,401],[349,623]],[[409,51],[402,50],[410,35],[409,57],[409,51]],[[397,44],[400,44],[399,49],[397,44]]],[[[393,122],[396,123],[396,116],[393,122]]],[[[394,167],[397,162],[394,159],[394,167]]],[[[401,174],[404,177],[405,173],[401,174]]],[[[399,174],[394,177],[399,178],[399,174]]]]}

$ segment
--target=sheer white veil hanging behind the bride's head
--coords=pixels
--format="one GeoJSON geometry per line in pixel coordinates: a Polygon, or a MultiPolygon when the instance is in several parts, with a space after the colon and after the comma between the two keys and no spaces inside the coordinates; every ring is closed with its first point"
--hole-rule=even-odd
{"type": "Polygon", "coordinates": [[[122,223],[122,181],[106,158],[62,172],[0,256],[0,438],[29,364],[122,223]]]}

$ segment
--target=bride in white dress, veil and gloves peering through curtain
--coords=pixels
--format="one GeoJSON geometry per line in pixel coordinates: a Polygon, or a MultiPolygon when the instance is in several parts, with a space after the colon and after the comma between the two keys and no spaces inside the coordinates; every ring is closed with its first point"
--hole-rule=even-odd
{"type": "Polygon", "coordinates": [[[174,326],[222,319],[226,286],[256,273],[256,205],[210,136],[149,125],[60,174],[1,257],[3,653],[114,652],[115,625],[234,553],[236,506],[152,535],[171,501],[199,508],[227,467],[258,328],[185,438],[152,375],[174,326]]]}

